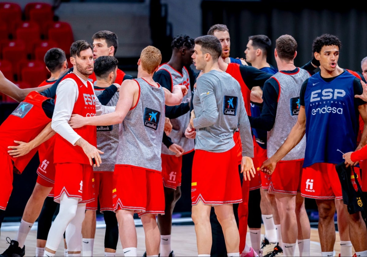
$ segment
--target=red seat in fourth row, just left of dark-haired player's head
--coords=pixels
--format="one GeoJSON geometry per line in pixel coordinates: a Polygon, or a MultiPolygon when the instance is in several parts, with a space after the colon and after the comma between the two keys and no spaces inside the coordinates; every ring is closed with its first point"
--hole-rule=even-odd
{"type": "Polygon", "coordinates": [[[41,82],[47,79],[47,70],[44,62],[41,61],[21,61],[19,62],[19,79],[26,82],[30,87],[38,87],[41,82]]]}

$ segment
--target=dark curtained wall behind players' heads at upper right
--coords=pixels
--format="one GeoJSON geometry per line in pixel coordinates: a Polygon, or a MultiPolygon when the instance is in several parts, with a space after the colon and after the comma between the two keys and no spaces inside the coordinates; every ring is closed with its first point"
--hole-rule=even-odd
{"type": "MultiPolygon", "coordinates": [[[[323,33],[342,41],[339,66],[360,71],[360,61],[367,56],[367,11],[356,1],[336,4],[326,1],[202,1],[202,30],[226,24],[231,36],[232,57],[244,57],[248,36],[267,35],[275,48],[277,37],[289,34],[298,43],[296,66],[302,66],[312,56],[312,42],[323,33]],[[330,3],[327,6],[323,3],[330,3]]],[[[268,54],[276,65],[274,52],[268,54]]]]}

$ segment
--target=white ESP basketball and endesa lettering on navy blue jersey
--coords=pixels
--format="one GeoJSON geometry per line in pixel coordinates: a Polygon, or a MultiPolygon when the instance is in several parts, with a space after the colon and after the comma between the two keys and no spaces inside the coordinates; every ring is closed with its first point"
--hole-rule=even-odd
{"type": "Polygon", "coordinates": [[[342,89],[326,88],[311,92],[310,106],[312,106],[312,115],[337,113],[343,114],[344,102],[341,99],[345,96],[342,89]]]}

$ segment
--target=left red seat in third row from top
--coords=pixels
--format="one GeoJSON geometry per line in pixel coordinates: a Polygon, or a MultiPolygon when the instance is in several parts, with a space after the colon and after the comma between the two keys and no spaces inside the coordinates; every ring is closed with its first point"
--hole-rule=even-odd
{"type": "Polygon", "coordinates": [[[22,40],[9,40],[3,45],[2,57],[11,62],[13,74],[17,74],[18,62],[27,59],[25,43],[22,40]]]}

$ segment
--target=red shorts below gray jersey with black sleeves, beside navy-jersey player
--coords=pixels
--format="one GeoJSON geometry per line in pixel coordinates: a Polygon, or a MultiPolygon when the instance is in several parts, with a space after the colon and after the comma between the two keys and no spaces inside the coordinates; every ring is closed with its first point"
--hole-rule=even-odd
{"type": "Polygon", "coordinates": [[[301,192],[302,165],[303,159],[278,162],[272,174],[268,193],[297,195],[297,192],[301,192]]]}

